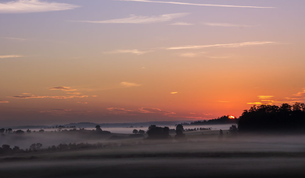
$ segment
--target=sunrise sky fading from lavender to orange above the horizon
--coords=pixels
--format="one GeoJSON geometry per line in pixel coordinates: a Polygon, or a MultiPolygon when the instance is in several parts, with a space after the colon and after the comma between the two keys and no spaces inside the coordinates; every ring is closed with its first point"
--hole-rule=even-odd
{"type": "Polygon", "coordinates": [[[305,101],[305,1],[0,0],[0,126],[305,101]]]}

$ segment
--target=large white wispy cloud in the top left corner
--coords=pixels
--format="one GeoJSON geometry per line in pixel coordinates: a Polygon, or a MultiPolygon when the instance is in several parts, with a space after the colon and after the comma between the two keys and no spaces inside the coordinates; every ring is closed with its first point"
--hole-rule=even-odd
{"type": "Polygon", "coordinates": [[[0,3],[0,13],[29,13],[69,10],[81,7],[74,4],[40,0],[19,0],[0,3]]]}

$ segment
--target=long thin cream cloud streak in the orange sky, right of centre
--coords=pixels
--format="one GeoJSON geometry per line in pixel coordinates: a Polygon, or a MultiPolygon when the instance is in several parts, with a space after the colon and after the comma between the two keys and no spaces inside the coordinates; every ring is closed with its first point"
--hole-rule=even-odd
{"type": "Polygon", "coordinates": [[[178,49],[200,49],[207,47],[226,47],[226,48],[236,48],[242,46],[258,46],[258,45],[268,45],[268,44],[280,44],[272,41],[253,41],[253,42],[244,42],[244,43],[231,43],[231,44],[215,44],[215,45],[202,45],[202,46],[177,46],[170,47],[167,50],[178,50],[178,49]]]}

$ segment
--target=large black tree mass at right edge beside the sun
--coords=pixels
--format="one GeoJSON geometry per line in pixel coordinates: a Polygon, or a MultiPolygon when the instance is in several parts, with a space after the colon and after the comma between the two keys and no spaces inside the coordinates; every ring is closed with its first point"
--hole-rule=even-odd
{"type": "Polygon", "coordinates": [[[240,133],[305,132],[305,104],[253,105],[239,117],[238,130],[240,133]]]}

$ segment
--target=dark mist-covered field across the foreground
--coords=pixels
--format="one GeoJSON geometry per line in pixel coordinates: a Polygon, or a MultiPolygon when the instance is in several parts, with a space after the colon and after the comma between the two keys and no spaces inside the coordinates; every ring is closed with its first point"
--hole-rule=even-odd
{"type": "Polygon", "coordinates": [[[3,155],[0,171],[2,177],[303,177],[305,173],[304,135],[231,139],[225,134],[220,140],[217,133],[188,132],[188,142],[128,139],[100,149],[3,155]],[[122,142],[138,144],[120,146],[122,142]]]}

